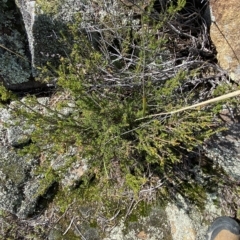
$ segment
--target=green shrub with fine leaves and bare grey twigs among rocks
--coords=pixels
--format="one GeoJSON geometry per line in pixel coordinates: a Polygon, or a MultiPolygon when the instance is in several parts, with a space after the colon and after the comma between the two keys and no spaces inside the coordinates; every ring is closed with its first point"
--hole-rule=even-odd
{"type": "MultiPolygon", "coordinates": [[[[68,26],[71,53],[61,56],[55,70],[57,91],[52,102],[41,103],[29,96],[14,109],[26,127],[33,126],[32,143],[22,153],[44,154],[42,170],[48,169],[57,181],[72,162],[85,159],[88,172],[80,187],[84,189],[94,179],[95,187],[109,188],[118,175],[137,196],[149,169],[164,176],[211,136],[215,129],[210,107],[147,117],[199,101],[201,86],[187,88],[186,84],[200,78],[198,72],[206,63],[196,59],[177,62],[169,48],[174,40],[167,26],[183,6],[184,1],[179,1],[158,18],[149,7],[137,27],[130,19],[122,28],[101,30],[109,22],[114,24],[106,20],[95,29],[97,47],[76,15],[68,26]],[[70,154],[72,148],[77,152],[70,154]],[[59,154],[64,164],[49,170],[59,154]],[[119,174],[113,175],[116,162],[119,174]]],[[[63,36],[66,45],[67,39],[63,36]]]]}

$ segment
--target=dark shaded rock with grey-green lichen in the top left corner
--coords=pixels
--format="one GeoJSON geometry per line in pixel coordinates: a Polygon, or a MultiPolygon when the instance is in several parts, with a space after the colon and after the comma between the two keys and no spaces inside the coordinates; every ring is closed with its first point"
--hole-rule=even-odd
{"type": "Polygon", "coordinates": [[[28,43],[13,0],[0,2],[0,44],[1,82],[6,87],[27,82],[31,75],[28,43]]]}

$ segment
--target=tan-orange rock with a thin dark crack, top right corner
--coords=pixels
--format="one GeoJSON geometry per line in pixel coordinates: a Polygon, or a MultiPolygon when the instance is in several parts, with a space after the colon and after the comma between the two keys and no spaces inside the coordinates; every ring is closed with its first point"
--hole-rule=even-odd
{"type": "Polygon", "coordinates": [[[240,80],[240,2],[210,0],[212,9],[211,39],[217,49],[220,66],[233,80],[240,80]]]}

